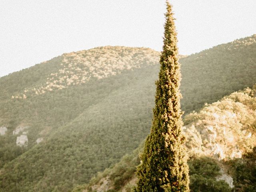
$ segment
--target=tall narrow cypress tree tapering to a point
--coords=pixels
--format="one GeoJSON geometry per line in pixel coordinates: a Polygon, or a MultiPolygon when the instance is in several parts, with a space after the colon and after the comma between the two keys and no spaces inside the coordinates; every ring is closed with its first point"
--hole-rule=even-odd
{"type": "Polygon", "coordinates": [[[136,192],[189,192],[188,165],[179,91],[180,65],[172,6],[167,12],[164,46],[160,57],[159,80],[156,82],[154,119],[146,139],[142,164],[138,166],[136,192]]]}

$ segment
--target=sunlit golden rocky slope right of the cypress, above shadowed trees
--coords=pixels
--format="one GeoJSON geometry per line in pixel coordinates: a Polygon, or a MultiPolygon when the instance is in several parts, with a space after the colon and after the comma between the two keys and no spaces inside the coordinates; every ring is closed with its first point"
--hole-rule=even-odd
{"type": "Polygon", "coordinates": [[[212,156],[218,160],[241,158],[253,148],[255,135],[248,128],[248,119],[255,117],[256,112],[229,98],[189,114],[186,118],[190,123],[183,127],[189,155],[212,156]]]}

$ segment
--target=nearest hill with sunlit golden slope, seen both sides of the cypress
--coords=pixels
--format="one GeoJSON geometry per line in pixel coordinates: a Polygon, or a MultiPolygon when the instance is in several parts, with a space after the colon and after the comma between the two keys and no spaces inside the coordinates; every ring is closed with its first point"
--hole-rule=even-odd
{"type": "MultiPolygon", "coordinates": [[[[184,118],[192,192],[256,189],[256,84],[184,118]]],[[[73,192],[130,192],[143,144],[73,192]]]]}

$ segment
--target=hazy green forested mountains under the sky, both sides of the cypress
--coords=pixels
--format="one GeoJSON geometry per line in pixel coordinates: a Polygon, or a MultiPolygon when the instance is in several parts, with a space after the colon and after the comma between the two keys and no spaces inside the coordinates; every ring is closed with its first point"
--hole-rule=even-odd
{"type": "MultiPolygon", "coordinates": [[[[251,87],[255,51],[253,35],[181,58],[185,113],[251,87]]],[[[0,191],[71,191],[136,149],[158,70],[159,52],[107,46],[0,78],[0,191]]]]}

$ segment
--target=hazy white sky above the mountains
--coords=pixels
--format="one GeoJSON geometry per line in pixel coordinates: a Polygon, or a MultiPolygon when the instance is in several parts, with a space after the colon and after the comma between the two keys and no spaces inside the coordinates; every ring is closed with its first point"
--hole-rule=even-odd
{"type": "MultiPolygon", "coordinates": [[[[170,0],[180,54],[256,33],[256,0],[170,0]]],[[[0,0],[0,76],[97,46],[162,50],[165,0],[0,0]]]]}

